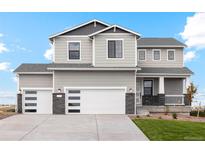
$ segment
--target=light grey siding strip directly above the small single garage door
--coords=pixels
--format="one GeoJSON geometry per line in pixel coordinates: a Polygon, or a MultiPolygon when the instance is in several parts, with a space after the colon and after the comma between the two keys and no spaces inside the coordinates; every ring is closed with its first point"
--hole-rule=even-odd
{"type": "Polygon", "coordinates": [[[35,88],[52,88],[53,87],[53,77],[49,75],[19,75],[19,88],[22,87],[35,87],[35,88]]]}

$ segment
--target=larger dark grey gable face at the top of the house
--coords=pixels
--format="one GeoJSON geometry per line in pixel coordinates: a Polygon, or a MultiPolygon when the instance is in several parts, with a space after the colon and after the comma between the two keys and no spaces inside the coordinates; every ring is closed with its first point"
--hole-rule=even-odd
{"type": "Polygon", "coordinates": [[[99,30],[102,30],[106,27],[108,27],[108,26],[101,24],[101,23],[98,23],[98,22],[96,22],[96,24],[95,24],[95,22],[92,22],[92,23],[89,23],[89,24],[84,25],[82,27],[79,27],[77,29],[66,32],[62,35],[89,35],[89,34],[97,32],[99,30]]]}

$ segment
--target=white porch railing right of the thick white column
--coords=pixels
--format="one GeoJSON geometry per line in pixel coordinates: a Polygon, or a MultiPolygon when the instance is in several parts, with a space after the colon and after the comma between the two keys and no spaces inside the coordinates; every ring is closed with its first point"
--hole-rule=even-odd
{"type": "Polygon", "coordinates": [[[165,95],[165,105],[184,105],[184,95],[165,95]]]}

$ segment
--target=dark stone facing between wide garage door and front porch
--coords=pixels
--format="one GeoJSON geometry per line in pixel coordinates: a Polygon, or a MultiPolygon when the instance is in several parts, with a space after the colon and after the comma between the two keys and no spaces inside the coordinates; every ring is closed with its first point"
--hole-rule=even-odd
{"type": "Polygon", "coordinates": [[[126,93],[126,114],[135,114],[135,93],[126,93]]]}

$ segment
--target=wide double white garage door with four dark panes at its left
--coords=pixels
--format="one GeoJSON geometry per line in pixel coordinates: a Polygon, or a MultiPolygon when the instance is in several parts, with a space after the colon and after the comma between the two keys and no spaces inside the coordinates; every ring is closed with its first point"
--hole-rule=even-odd
{"type": "Polygon", "coordinates": [[[125,114],[125,89],[68,89],[66,113],[125,114]]]}

